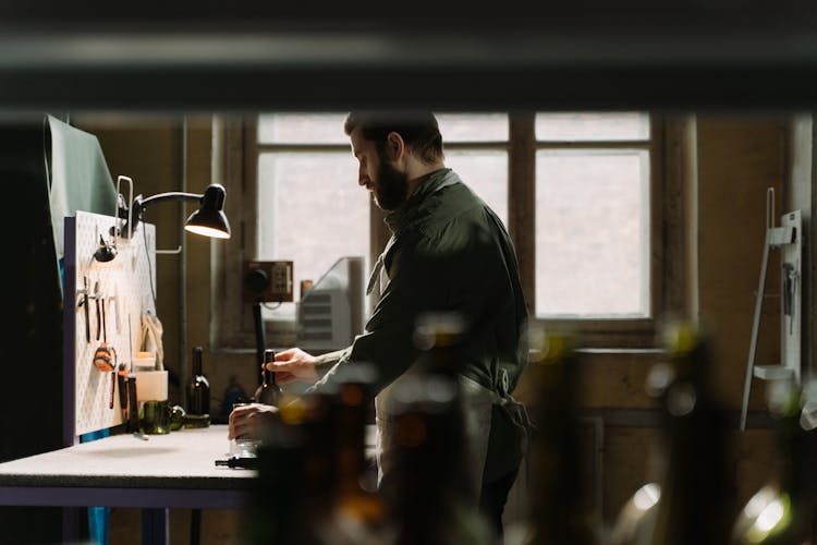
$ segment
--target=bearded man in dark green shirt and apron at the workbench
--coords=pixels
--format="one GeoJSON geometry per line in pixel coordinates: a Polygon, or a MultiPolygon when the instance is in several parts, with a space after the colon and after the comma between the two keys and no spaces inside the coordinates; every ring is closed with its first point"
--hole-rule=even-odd
{"type": "MultiPolygon", "coordinates": [[[[267,366],[280,385],[331,387],[345,366],[373,364],[378,373],[379,482],[394,471],[389,397],[420,349],[417,320],[454,314],[466,329],[456,344],[474,498],[498,535],[524,445],[524,408],[511,396],[527,363],[527,305],[511,238],[499,217],[444,165],[442,136],[430,112],[352,112],[344,131],[358,161],[357,183],[386,213],[391,239],[374,267],[367,293],[377,305],[365,331],[344,350],[313,355],[280,351],[267,366]],[[332,365],[324,374],[317,366],[332,365]]],[[[230,436],[252,435],[269,409],[239,408],[230,436]],[[255,422],[254,422],[255,421],[255,422]]]]}

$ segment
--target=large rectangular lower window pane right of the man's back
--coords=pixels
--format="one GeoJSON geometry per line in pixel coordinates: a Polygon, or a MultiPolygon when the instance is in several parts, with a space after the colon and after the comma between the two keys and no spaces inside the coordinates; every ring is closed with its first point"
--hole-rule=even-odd
{"type": "Polygon", "coordinates": [[[647,152],[536,159],[537,316],[647,316],[647,152]]]}

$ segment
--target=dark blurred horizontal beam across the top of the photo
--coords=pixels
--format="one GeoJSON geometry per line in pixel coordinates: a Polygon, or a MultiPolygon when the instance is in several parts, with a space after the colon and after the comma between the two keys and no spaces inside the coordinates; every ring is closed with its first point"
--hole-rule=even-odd
{"type": "Polygon", "coordinates": [[[814,106],[808,2],[562,3],[0,5],[0,110],[814,106]]]}

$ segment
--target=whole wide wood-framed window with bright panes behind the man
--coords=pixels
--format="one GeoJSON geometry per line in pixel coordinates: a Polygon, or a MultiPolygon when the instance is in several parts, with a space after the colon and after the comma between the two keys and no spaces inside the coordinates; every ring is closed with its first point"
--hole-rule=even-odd
{"type": "MultiPolygon", "coordinates": [[[[265,113],[244,133],[252,183],[240,211],[251,233],[243,258],[294,262],[295,301],[302,280],[318,280],[344,255],[364,256],[368,269],[388,239],[357,185],[344,117],[265,113]]],[[[634,331],[651,338],[661,293],[656,121],[642,112],[438,120],[447,166],[509,227],[535,318],[599,334],[602,343],[634,331]]],[[[294,315],[293,303],[264,310],[273,340],[292,342],[294,315]]]]}

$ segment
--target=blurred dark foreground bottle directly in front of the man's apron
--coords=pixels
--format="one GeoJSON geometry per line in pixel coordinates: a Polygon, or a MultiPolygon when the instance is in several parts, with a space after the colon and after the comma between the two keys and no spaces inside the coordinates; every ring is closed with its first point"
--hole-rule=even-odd
{"type": "Polygon", "coordinates": [[[417,319],[413,367],[380,400],[382,479],[390,545],[489,545],[492,529],[479,510],[472,444],[459,374],[461,316],[431,313],[417,319]]]}

